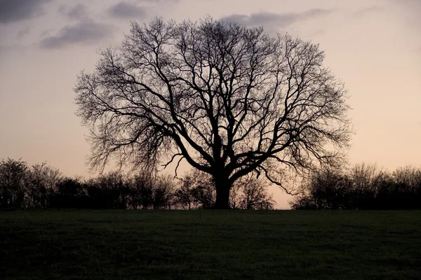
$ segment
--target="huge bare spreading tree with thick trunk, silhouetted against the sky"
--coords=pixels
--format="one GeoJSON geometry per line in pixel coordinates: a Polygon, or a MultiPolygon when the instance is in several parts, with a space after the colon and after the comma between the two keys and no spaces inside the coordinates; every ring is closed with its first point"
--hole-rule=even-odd
{"type": "MultiPolygon", "coordinates": [[[[91,167],[187,160],[213,177],[215,208],[251,172],[283,186],[286,169],[333,164],[349,141],[344,85],[319,46],[262,27],[205,18],[133,22],[121,48],[80,73],[77,114],[91,128],[91,167]]],[[[177,168],[175,169],[177,174],[177,168]]]]}

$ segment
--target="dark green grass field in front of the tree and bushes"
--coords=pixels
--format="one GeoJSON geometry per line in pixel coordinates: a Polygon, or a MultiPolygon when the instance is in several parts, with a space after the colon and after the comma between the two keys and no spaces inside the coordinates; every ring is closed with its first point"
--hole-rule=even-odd
{"type": "Polygon", "coordinates": [[[421,279],[421,211],[0,211],[2,279],[421,279]]]}

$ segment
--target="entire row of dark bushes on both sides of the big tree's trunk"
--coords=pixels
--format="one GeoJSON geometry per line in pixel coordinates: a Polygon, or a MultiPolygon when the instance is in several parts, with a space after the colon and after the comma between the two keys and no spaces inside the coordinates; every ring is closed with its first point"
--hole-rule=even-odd
{"type": "MultiPolygon", "coordinates": [[[[229,195],[232,209],[273,209],[265,181],[244,177],[229,195]]],[[[0,208],[211,209],[212,178],[198,171],[170,175],[109,172],[93,179],[63,176],[45,163],[0,161],[0,208]]],[[[421,169],[394,172],[374,165],[323,169],[302,183],[293,209],[421,209],[421,169]]]]}

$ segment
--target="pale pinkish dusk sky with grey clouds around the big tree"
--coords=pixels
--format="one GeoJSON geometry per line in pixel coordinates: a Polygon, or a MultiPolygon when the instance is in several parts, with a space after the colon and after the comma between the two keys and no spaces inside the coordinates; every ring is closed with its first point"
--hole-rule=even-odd
{"type": "MultiPolygon", "coordinates": [[[[349,164],[421,166],[421,0],[0,0],[0,159],[88,173],[73,87],[130,22],[236,20],[319,43],[348,90],[349,164]]],[[[187,169],[188,167],[185,167],[187,169]]],[[[278,208],[290,197],[269,189],[278,208]]]]}

